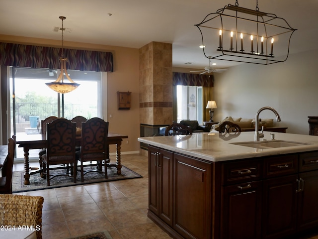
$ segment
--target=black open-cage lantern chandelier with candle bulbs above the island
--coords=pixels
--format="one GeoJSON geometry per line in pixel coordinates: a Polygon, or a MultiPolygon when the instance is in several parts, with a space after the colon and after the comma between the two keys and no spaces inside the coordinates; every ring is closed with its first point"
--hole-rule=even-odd
{"type": "Polygon", "coordinates": [[[284,18],[228,4],[195,24],[205,57],[268,65],[288,58],[292,28],[284,18]],[[275,44],[275,47],[274,47],[275,44]],[[212,55],[212,57],[211,57],[212,55]]]}

